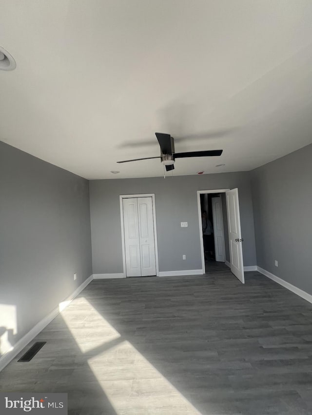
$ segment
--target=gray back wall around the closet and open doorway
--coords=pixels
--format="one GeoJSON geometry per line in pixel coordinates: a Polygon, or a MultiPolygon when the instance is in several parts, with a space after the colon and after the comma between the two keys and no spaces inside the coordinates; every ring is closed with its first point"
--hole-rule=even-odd
{"type": "Polygon", "coordinates": [[[90,180],[94,273],[123,271],[119,195],[155,193],[159,271],[201,269],[197,190],[238,187],[244,265],[256,265],[249,172],[90,180]],[[181,228],[180,222],[188,222],[181,228]],[[182,255],[186,254],[186,260],[182,255]]]}

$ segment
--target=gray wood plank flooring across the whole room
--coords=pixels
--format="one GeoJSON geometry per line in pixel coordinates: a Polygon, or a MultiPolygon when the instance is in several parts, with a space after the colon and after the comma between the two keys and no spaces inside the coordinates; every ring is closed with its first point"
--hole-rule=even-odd
{"type": "Polygon", "coordinates": [[[312,414],[312,305],[258,272],[94,280],[0,373],[69,414],[312,414]]]}

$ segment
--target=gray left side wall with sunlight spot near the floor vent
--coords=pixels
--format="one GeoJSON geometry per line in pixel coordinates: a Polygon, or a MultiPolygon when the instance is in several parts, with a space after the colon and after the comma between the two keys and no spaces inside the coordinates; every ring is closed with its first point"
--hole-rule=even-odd
{"type": "Polygon", "coordinates": [[[18,330],[10,343],[91,274],[88,180],[0,142],[0,308],[16,307],[18,330]]]}

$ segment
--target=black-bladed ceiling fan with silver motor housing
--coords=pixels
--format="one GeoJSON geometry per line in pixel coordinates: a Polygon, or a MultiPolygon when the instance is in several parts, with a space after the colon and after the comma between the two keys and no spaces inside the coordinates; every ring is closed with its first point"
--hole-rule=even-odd
{"type": "Polygon", "coordinates": [[[160,159],[166,166],[166,170],[170,171],[175,168],[175,160],[183,159],[185,157],[207,157],[207,156],[221,156],[223,150],[206,150],[206,151],[188,151],[186,153],[175,152],[175,140],[170,134],[156,132],[156,138],[160,146],[160,156],[144,157],[142,159],[123,160],[117,163],[137,162],[138,160],[160,159]]]}

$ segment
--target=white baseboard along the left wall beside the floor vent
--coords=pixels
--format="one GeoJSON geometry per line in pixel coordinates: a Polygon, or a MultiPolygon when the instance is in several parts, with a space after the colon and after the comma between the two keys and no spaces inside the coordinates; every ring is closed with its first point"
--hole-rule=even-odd
{"type": "Polygon", "coordinates": [[[0,371],[13,360],[24,347],[27,346],[39,333],[46,327],[51,321],[59,314],[61,310],[67,307],[70,302],[77,297],[77,295],[93,280],[93,276],[90,275],[75,291],[69,295],[64,301],[59,303],[58,307],[55,307],[46,317],[44,317],[39,323],[37,323],[28,333],[25,334],[13,348],[7,351],[0,357],[0,371]]]}

